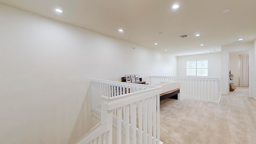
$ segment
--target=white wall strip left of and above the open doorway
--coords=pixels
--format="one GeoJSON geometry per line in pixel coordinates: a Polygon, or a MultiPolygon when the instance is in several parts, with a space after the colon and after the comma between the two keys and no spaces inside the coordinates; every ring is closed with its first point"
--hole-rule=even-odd
{"type": "MultiPolygon", "coordinates": [[[[222,55],[222,94],[228,94],[229,91],[229,69],[228,69],[228,59],[227,55],[228,52],[235,52],[235,51],[241,51],[241,50],[252,50],[253,43],[247,42],[247,43],[238,43],[238,44],[232,44],[227,46],[221,47],[221,55],[222,55]]],[[[250,55],[249,55],[250,56],[250,55]]],[[[253,57],[253,56],[252,56],[253,57]]],[[[250,58],[250,57],[249,57],[250,58]]],[[[253,71],[252,71],[253,73],[253,71]]]]}

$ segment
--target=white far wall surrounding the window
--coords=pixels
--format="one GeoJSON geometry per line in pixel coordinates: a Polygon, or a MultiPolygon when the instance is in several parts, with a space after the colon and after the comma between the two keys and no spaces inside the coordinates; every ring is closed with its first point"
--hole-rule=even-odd
{"type": "Polygon", "coordinates": [[[208,76],[202,78],[220,78],[221,77],[221,53],[198,54],[191,56],[179,56],[177,58],[177,76],[186,76],[186,62],[196,60],[208,60],[208,76]]]}

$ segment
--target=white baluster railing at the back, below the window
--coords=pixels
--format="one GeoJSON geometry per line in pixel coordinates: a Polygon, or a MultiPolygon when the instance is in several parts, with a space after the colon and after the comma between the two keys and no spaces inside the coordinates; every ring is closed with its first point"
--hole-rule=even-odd
{"type": "Polygon", "coordinates": [[[211,102],[220,102],[221,89],[220,78],[183,78],[150,76],[150,84],[158,84],[161,81],[181,82],[180,96],[211,102]]]}

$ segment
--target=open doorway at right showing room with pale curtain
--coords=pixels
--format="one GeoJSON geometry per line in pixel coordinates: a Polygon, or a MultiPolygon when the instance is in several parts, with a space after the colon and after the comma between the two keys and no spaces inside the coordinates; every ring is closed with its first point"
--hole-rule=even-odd
{"type": "MultiPolygon", "coordinates": [[[[228,88],[236,86],[248,87],[249,97],[251,97],[251,87],[250,87],[250,50],[241,50],[228,52],[228,73],[229,73],[229,85],[228,88]],[[244,58],[247,56],[247,65],[244,64],[244,58]],[[247,71],[246,71],[247,70],[247,71]],[[230,77],[231,76],[231,77],[230,77]],[[247,80],[247,81],[246,81],[247,80]]],[[[234,89],[234,90],[240,90],[234,89]]],[[[228,90],[228,94],[233,90],[228,90]]]]}

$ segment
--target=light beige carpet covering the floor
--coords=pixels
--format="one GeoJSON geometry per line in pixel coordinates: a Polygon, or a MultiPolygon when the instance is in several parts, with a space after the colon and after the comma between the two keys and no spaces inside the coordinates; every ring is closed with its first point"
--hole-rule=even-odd
{"type": "Polygon", "coordinates": [[[256,100],[236,87],[220,103],[181,98],[160,101],[164,144],[256,144],[256,100]]]}

